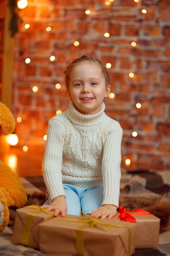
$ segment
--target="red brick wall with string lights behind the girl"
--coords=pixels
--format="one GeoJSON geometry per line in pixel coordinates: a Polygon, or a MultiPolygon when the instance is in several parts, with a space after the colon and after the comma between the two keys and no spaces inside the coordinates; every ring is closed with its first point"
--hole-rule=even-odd
{"type": "Polygon", "coordinates": [[[15,37],[13,113],[22,117],[16,124],[18,145],[44,147],[47,122],[56,110],[68,108],[63,71],[87,54],[112,65],[108,72],[115,98],[106,101],[106,113],[124,130],[122,164],[130,158],[141,166],[170,167],[170,0],[114,0],[109,6],[104,0],[28,2],[20,11],[23,23],[15,37]]]}

